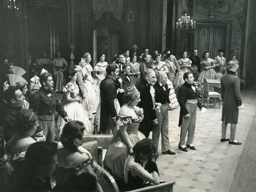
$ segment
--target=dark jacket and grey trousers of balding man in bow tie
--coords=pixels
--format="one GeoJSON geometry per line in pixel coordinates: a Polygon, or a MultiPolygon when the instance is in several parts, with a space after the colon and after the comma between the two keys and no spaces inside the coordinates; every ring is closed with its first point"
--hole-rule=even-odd
{"type": "Polygon", "coordinates": [[[168,108],[169,108],[169,103],[171,102],[169,99],[170,89],[168,89],[167,84],[163,85],[163,87],[159,84],[158,81],[154,85],[155,101],[156,103],[161,103],[162,105],[159,108],[160,111],[156,110],[158,124],[153,127],[152,140],[155,147],[158,148],[159,136],[161,132],[162,152],[167,152],[170,149],[169,136],[168,136],[169,134],[168,108]]]}

